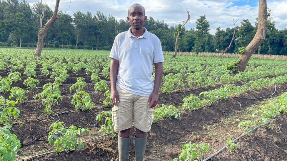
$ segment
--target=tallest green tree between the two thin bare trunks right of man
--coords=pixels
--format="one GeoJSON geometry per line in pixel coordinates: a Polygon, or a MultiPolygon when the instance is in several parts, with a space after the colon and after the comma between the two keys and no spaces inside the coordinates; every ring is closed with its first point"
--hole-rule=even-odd
{"type": "Polygon", "coordinates": [[[193,52],[207,52],[210,48],[209,45],[211,35],[209,34],[210,25],[206,20],[206,16],[200,16],[196,20],[196,31],[193,52]],[[207,48],[206,48],[207,47],[207,48]]]}

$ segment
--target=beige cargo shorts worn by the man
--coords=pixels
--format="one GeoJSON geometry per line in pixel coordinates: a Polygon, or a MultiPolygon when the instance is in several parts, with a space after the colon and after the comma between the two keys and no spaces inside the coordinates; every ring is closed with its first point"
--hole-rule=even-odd
{"type": "Polygon", "coordinates": [[[154,108],[149,108],[149,96],[139,96],[124,91],[116,86],[119,93],[117,106],[112,108],[112,119],[115,131],[135,128],[147,132],[151,130],[154,108]]]}

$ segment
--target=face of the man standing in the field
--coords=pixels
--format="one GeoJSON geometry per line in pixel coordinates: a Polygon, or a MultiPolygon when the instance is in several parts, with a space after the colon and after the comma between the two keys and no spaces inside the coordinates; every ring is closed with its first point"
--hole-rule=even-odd
{"type": "Polygon", "coordinates": [[[143,23],[146,20],[142,6],[132,6],[129,10],[129,15],[126,19],[135,30],[143,28],[143,23]]]}

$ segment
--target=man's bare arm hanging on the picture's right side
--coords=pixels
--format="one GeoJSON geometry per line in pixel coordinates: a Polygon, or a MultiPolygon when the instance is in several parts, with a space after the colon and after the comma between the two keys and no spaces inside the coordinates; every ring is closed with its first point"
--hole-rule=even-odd
{"type": "Polygon", "coordinates": [[[161,78],[163,74],[163,63],[155,63],[154,64],[155,69],[156,69],[156,75],[154,79],[154,88],[153,88],[153,93],[149,96],[148,99],[148,104],[150,108],[153,108],[158,104],[158,91],[159,87],[161,86],[161,78]]]}

